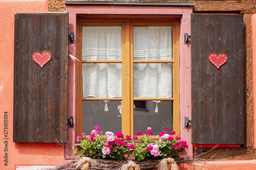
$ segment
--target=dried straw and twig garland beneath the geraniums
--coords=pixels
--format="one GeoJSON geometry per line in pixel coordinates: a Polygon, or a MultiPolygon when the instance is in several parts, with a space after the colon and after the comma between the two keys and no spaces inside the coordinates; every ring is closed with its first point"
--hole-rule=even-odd
{"type": "Polygon", "coordinates": [[[176,161],[176,163],[187,163],[191,166],[197,167],[198,165],[195,163],[203,162],[203,160],[195,158],[193,159],[191,157],[145,159],[142,161],[127,160],[124,162],[119,162],[117,160],[111,159],[91,159],[88,157],[83,157],[80,159],[74,159],[67,162],[63,162],[53,168],[45,168],[44,170],[151,170],[157,168],[159,170],[174,170],[175,168],[172,167],[172,162],[174,161],[173,159],[176,161]]]}

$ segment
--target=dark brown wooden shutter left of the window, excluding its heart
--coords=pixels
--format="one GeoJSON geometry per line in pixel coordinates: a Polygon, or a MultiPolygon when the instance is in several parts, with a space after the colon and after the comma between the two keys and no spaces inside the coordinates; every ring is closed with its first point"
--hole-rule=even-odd
{"type": "Polygon", "coordinates": [[[14,142],[67,142],[68,14],[16,14],[14,142]],[[34,53],[48,52],[40,67],[34,53]]]}

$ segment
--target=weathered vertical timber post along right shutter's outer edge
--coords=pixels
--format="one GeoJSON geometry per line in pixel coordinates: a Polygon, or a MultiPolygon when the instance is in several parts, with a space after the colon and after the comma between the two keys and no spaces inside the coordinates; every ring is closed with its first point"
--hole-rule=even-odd
{"type": "Polygon", "coordinates": [[[252,85],[252,40],[251,14],[244,14],[244,92],[245,92],[245,141],[246,147],[253,147],[253,85],[252,85]]]}

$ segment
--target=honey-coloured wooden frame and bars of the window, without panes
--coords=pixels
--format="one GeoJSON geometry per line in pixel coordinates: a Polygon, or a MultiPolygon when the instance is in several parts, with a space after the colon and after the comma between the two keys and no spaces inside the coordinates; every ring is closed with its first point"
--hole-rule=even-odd
{"type": "MultiPolygon", "coordinates": [[[[180,134],[179,107],[179,21],[149,20],[91,20],[81,19],[77,22],[77,119],[76,135],[82,132],[82,101],[122,101],[122,133],[134,135],[133,101],[173,101],[173,129],[180,134]],[[82,27],[83,26],[121,26],[122,60],[120,61],[83,61],[82,60],[82,27]],[[173,26],[173,60],[171,61],[139,61],[133,60],[133,27],[134,26],[173,26]],[[127,57],[129,56],[129,57],[127,57]],[[82,98],[82,63],[122,63],[122,98],[82,98]],[[134,63],[173,63],[173,98],[133,98],[133,64],[134,63]]],[[[157,136],[153,136],[156,139],[157,136]]]]}

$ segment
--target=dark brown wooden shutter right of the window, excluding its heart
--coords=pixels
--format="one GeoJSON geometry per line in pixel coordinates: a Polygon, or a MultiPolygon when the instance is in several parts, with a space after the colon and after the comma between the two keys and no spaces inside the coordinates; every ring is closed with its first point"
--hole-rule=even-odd
{"type": "Polygon", "coordinates": [[[244,144],[243,15],[192,14],[191,56],[192,143],[244,144]]]}

